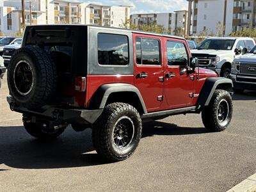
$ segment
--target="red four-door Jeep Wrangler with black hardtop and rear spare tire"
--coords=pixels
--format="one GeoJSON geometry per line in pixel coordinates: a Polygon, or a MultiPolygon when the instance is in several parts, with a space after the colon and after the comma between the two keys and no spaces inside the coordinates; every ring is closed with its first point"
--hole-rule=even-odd
{"type": "Polygon", "coordinates": [[[40,139],[92,127],[93,145],[127,159],[142,122],[202,113],[223,131],[232,118],[232,81],[197,68],[177,36],[97,26],[29,26],[8,70],[10,109],[40,139]]]}

